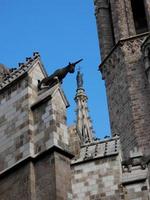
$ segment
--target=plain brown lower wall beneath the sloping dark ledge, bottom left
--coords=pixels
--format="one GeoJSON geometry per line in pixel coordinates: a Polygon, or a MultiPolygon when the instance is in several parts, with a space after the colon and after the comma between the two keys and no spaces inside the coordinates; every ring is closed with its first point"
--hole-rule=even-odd
{"type": "Polygon", "coordinates": [[[71,200],[70,159],[47,153],[0,175],[1,200],[71,200]]]}

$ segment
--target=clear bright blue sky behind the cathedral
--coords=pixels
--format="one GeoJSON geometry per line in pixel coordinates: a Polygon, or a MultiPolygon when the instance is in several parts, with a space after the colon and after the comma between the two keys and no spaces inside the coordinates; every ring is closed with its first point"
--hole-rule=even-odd
{"type": "MultiPolygon", "coordinates": [[[[0,63],[15,67],[39,51],[48,74],[80,58],[96,135],[110,134],[93,0],[0,0],[0,63]]],[[[68,124],[76,119],[76,73],[63,83],[68,124]]]]}

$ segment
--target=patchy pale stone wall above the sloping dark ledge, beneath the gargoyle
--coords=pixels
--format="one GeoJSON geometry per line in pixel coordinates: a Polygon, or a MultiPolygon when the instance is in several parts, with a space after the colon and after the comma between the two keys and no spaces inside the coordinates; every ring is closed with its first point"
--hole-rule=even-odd
{"type": "Polygon", "coordinates": [[[0,91],[0,171],[52,145],[68,149],[63,92],[59,85],[38,92],[38,79],[44,77],[39,62],[28,73],[0,91]]]}

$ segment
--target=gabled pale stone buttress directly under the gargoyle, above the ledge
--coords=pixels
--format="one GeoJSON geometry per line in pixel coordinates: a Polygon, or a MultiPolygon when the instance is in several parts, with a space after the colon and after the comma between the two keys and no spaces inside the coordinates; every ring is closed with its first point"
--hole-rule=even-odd
{"type": "Polygon", "coordinates": [[[66,126],[66,105],[62,101],[59,86],[41,94],[41,98],[49,100],[33,104],[35,154],[52,147],[59,146],[68,150],[69,139],[66,126]],[[54,94],[55,93],[55,94],[54,94]],[[37,105],[36,105],[37,104],[37,105]]]}

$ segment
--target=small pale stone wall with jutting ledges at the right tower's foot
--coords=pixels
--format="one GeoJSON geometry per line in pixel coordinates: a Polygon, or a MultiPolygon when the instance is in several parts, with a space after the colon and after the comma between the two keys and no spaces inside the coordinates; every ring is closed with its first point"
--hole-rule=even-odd
{"type": "Polygon", "coordinates": [[[146,160],[141,151],[134,148],[130,152],[130,158],[122,162],[122,191],[125,199],[149,199],[149,170],[146,160]]]}

